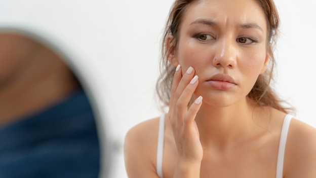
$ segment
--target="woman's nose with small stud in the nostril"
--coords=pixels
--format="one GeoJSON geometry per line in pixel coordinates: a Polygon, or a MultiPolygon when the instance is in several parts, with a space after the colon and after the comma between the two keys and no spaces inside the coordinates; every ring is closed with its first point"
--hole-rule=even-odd
{"type": "Polygon", "coordinates": [[[236,67],[237,54],[233,42],[234,41],[230,38],[223,38],[219,41],[213,59],[213,65],[215,67],[228,67],[231,69],[236,67]]]}

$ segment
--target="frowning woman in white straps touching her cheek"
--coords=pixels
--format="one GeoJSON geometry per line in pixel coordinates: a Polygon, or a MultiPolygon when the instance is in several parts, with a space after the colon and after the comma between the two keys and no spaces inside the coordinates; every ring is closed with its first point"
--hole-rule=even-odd
{"type": "Polygon", "coordinates": [[[278,26],[272,0],[175,2],[157,85],[169,112],[128,132],[130,178],[316,177],[316,130],[269,86],[278,26]]]}

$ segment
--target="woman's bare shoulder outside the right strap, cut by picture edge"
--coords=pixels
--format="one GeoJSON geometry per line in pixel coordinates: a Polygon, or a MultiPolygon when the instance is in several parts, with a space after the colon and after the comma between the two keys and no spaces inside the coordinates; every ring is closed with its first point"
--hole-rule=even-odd
{"type": "Polygon", "coordinates": [[[286,178],[316,177],[316,129],[292,118],[286,143],[286,178]]]}

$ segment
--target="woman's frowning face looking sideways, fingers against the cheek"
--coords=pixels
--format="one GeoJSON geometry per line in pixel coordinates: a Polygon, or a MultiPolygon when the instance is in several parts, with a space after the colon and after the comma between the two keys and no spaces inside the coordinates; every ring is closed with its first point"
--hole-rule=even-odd
{"type": "Polygon", "coordinates": [[[266,34],[265,15],[255,0],[199,1],[184,15],[172,63],[182,66],[183,75],[189,66],[195,69],[194,94],[203,102],[228,106],[245,98],[264,72],[266,34]]]}

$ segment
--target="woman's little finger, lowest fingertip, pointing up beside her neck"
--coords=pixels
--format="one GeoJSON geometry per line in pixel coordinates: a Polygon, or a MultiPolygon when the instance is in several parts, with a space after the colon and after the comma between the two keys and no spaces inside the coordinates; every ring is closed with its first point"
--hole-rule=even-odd
{"type": "Polygon", "coordinates": [[[196,98],[195,101],[191,104],[189,110],[186,112],[186,114],[183,117],[184,127],[191,127],[193,125],[193,121],[195,119],[196,113],[198,113],[198,111],[201,108],[202,99],[203,97],[200,96],[196,98]]]}

